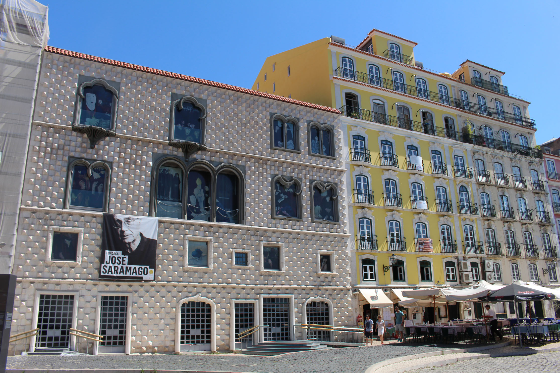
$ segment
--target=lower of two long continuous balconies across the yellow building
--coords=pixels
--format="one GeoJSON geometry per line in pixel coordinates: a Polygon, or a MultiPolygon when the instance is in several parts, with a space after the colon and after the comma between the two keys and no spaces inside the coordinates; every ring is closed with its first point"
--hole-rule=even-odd
{"type": "MultiPolygon", "coordinates": [[[[381,78],[379,78],[381,79],[381,78]]],[[[468,133],[448,130],[432,124],[423,124],[422,122],[399,118],[393,115],[379,114],[371,110],[365,110],[359,107],[342,106],[339,108],[344,116],[366,120],[369,122],[384,124],[391,127],[403,128],[409,131],[415,131],[432,136],[460,141],[461,143],[474,144],[480,147],[493,148],[503,150],[505,152],[526,155],[527,157],[543,158],[540,149],[524,147],[522,145],[504,143],[499,140],[485,139],[484,136],[471,135],[468,133]]],[[[370,162],[371,163],[371,162],[370,162]]]]}

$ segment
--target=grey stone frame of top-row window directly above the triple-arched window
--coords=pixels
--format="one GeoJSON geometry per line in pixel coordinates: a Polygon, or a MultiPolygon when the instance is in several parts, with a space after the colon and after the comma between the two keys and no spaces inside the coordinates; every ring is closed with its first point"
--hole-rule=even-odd
{"type": "Polygon", "coordinates": [[[183,96],[178,100],[174,100],[171,102],[171,106],[169,107],[169,145],[175,148],[180,148],[183,150],[183,155],[185,160],[188,160],[189,157],[197,152],[198,150],[206,150],[206,119],[207,119],[208,111],[202,103],[198,102],[197,98],[194,96],[183,96]],[[179,109],[183,109],[183,103],[189,102],[194,107],[197,107],[200,110],[200,143],[196,143],[195,141],[186,141],[186,140],[178,140],[175,139],[175,107],[179,106],[179,109]]]}

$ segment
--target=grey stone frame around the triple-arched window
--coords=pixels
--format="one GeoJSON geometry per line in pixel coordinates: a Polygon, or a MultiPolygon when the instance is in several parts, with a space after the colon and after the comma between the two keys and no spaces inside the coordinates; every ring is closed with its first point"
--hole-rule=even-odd
{"type": "MultiPolygon", "coordinates": [[[[152,158],[153,159],[153,158],[152,158]]],[[[159,169],[160,167],[164,166],[167,162],[174,162],[179,166],[183,172],[183,190],[181,191],[181,196],[183,197],[183,213],[181,214],[180,220],[189,220],[189,221],[198,221],[198,220],[191,220],[187,219],[186,214],[186,205],[187,205],[187,197],[188,197],[188,187],[189,187],[189,172],[196,168],[205,168],[204,171],[207,171],[211,176],[211,190],[210,196],[208,200],[210,201],[210,217],[209,222],[216,223],[216,183],[218,175],[223,171],[230,171],[237,176],[239,193],[237,196],[237,205],[239,206],[238,212],[238,220],[239,222],[236,223],[221,223],[221,224],[233,224],[233,225],[243,225],[245,224],[245,195],[246,195],[246,178],[244,170],[240,169],[235,164],[231,163],[221,163],[218,166],[214,167],[210,162],[207,160],[194,160],[193,162],[186,163],[185,160],[176,157],[174,155],[163,155],[161,158],[157,159],[153,162],[152,172],[151,172],[151,188],[150,188],[150,212],[149,216],[156,216],[156,205],[157,205],[157,183],[159,177],[159,169]]],[[[167,218],[161,217],[160,219],[175,219],[175,218],[167,218]]],[[[176,220],[176,219],[175,219],[176,220]]]]}

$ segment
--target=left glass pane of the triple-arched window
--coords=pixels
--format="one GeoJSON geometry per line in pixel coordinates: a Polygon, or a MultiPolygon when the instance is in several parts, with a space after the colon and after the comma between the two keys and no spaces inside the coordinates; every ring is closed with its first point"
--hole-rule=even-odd
{"type": "Polygon", "coordinates": [[[164,164],[157,175],[156,216],[183,218],[183,170],[164,164]]]}

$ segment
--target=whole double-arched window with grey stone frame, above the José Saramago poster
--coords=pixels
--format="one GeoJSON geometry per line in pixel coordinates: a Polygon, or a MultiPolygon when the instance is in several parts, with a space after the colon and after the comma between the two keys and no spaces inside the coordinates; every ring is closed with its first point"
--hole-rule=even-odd
{"type": "Polygon", "coordinates": [[[110,182],[110,164],[74,159],[68,166],[64,208],[108,211],[110,182]]]}

